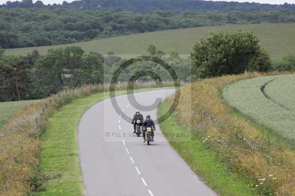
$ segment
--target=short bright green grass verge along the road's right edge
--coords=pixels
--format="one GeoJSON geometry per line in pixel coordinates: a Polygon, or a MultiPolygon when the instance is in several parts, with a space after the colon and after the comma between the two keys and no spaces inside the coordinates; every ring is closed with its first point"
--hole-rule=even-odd
{"type": "MultiPolygon", "coordinates": [[[[165,100],[158,107],[158,116],[164,115],[168,108],[168,101],[165,100]]],[[[224,166],[214,151],[207,149],[202,142],[202,134],[191,132],[187,127],[180,125],[176,121],[176,116],[170,116],[166,121],[160,124],[163,133],[189,133],[191,139],[188,141],[176,141],[176,139],[167,138],[178,152],[178,154],[187,162],[191,169],[198,174],[207,185],[220,196],[256,196],[255,190],[249,187],[245,179],[239,178],[235,173],[224,166]]]]}

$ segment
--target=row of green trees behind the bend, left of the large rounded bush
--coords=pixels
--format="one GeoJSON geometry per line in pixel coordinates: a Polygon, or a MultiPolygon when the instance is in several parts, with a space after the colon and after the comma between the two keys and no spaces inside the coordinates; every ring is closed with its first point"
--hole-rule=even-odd
{"type": "MultiPolygon", "coordinates": [[[[162,58],[180,73],[179,79],[187,80],[190,73],[189,59],[181,59],[177,52],[164,57],[165,52],[149,46],[146,55],[162,58]]],[[[107,55],[96,52],[85,53],[80,47],[49,49],[40,55],[37,50],[26,56],[3,55],[0,52],[0,101],[14,101],[45,98],[62,89],[103,84],[111,81],[118,67],[126,61],[109,52],[107,55]]],[[[160,79],[172,79],[163,67],[153,62],[137,62],[130,65],[118,77],[128,81],[139,74],[141,80],[149,80],[152,75],[140,74],[151,70],[160,79]]]]}

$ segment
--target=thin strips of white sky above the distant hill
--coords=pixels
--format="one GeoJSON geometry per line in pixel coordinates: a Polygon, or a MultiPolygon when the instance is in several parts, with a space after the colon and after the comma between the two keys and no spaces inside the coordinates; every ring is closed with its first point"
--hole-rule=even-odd
{"type": "MultiPolygon", "coordinates": [[[[5,3],[7,0],[0,0],[0,4],[5,3]]],[[[14,1],[14,0],[10,0],[10,1],[14,1]]],[[[21,1],[21,0],[18,0],[21,1]]],[[[33,2],[35,2],[37,0],[33,0],[33,2]]],[[[62,3],[63,0],[41,0],[44,4],[54,4],[54,3],[62,3]]],[[[73,0],[66,0],[67,2],[71,2],[73,0]]],[[[225,1],[233,1],[233,0],[225,0],[225,1]]],[[[284,4],[285,2],[288,3],[295,3],[295,0],[234,0],[234,1],[238,1],[238,2],[245,2],[245,1],[249,1],[249,2],[258,2],[258,3],[269,3],[269,4],[284,4]]]]}

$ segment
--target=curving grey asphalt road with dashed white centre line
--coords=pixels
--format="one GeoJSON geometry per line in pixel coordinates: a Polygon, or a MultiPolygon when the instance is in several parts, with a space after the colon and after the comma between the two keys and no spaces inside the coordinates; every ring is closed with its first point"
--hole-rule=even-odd
{"type": "MultiPolygon", "coordinates": [[[[172,95],[174,89],[135,93],[142,105],[172,95]]],[[[130,118],[136,108],[117,96],[130,118]]],[[[130,103],[131,102],[131,103],[130,103]]],[[[156,109],[143,111],[156,119],[156,109]]],[[[156,132],[161,132],[158,124],[156,132]]],[[[114,109],[111,99],[93,105],[78,125],[79,154],[87,196],[216,196],[189,168],[165,137],[150,146],[133,137],[133,125],[114,109]]]]}

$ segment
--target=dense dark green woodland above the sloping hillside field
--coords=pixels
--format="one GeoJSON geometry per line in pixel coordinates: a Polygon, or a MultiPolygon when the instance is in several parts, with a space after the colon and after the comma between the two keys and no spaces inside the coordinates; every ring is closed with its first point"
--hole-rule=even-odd
{"type": "Polygon", "coordinates": [[[165,29],[259,23],[295,23],[295,11],[139,13],[0,8],[0,48],[69,44],[165,29]]]}

